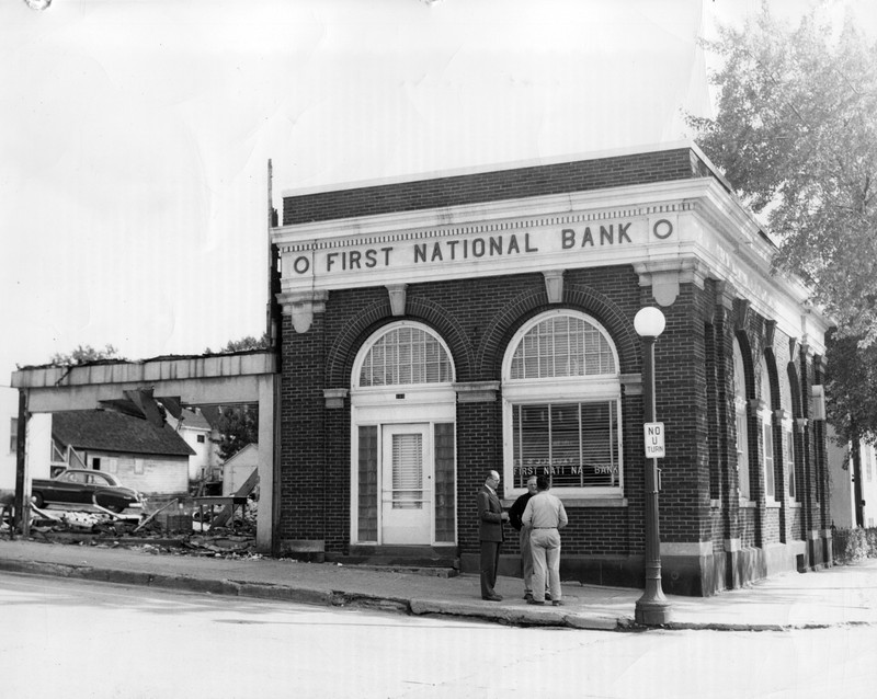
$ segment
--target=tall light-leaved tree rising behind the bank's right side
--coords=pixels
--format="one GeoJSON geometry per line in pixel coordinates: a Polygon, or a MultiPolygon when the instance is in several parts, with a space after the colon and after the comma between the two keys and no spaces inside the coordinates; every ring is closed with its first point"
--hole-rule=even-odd
{"type": "Polygon", "coordinates": [[[704,152],[766,216],[775,265],[804,278],[841,334],[877,340],[877,45],[847,16],[797,28],[764,3],[707,44],[721,59],[715,118],[688,117],[704,152]]]}

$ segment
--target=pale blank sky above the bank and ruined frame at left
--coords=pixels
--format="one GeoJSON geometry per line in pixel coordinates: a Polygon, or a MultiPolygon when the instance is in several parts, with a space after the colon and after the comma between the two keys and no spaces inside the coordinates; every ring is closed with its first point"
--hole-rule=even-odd
{"type": "MultiPolygon", "coordinates": [[[[872,3],[850,2],[868,28],[872,3]]],[[[80,344],[139,359],[261,335],[269,159],[280,209],[686,138],[684,113],[711,113],[698,37],[758,5],[0,0],[0,387],[80,344]]]]}

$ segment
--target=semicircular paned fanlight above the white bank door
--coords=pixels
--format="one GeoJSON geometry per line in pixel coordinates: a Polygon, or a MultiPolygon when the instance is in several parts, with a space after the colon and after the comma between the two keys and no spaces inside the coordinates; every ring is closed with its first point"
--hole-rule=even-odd
{"type": "Polygon", "coordinates": [[[454,380],[444,344],[420,325],[394,323],[362,359],[360,387],[449,383],[454,380]]]}

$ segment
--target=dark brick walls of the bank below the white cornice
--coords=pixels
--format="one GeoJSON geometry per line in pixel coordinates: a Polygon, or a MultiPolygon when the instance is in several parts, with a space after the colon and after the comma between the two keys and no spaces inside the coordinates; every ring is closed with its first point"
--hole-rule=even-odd
{"type": "MultiPolygon", "coordinates": [[[[641,347],[633,332],[633,317],[649,303],[649,294],[627,265],[570,271],[565,276],[561,307],[600,321],[615,342],[622,373],[640,373],[641,347]]],[[[540,274],[412,284],[407,296],[407,318],[434,328],[448,343],[459,382],[500,380],[502,358],[516,330],[553,308],[558,307],[548,305],[540,274]]],[[[662,540],[711,542],[714,550],[720,551],[728,539],[755,547],[785,537],[799,538],[806,525],[799,509],[789,509],[785,501],[782,511],[766,506],[759,463],[762,437],[754,416],[750,459],[755,506],[741,508],[737,500],[732,337],[734,333],[744,336],[750,353],[748,394],[767,396],[773,405],[779,386],[793,380],[789,371],[781,368],[784,364],[787,368],[790,358],[788,339],[782,334],[774,339],[768,356],[776,365],[771,375],[775,386],[765,392],[754,358],[765,347],[764,319],[749,313],[747,325],[739,326],[733,309],[722,306],[713,283],[704,289],[683,284],[676,301],[663,310],[667,330],[656,345],[657,419],[665,424],[668,445],[660,463],[662,540]]],[[[322,390],[349,388],[363,343],[395,320],[384,288],[332,291],[326,312],[315,314],[311,329],[304,334],[295,333],[285,319],[281,538],[320,539],[329,551],[346,550],[351,529],[350,400],[343,409],[326,410],[322,390]]],[[[810,369],[807,380],[812,376],[810,369]]],[[[627,507],[570,507],[570,526],[563,535],[568,555],[642,552],[641,396],[625,396],[622,411],[627,507]]],[[[778,434],[778,428],[775,432],[778,434]]],[[[502,471],[501,396],[492,403],[458,404],[456,442],[458,543],[462,553],[475,553],[475,493],[488,469],[502,471]]],[[[805,443],[800,460],[807,495],[802,492],[801,499],[812,502],[821,488],[815,466],[817,450],[812,435],[802,435],[802,447],[805,443]]],[[[782,478],[782,443],[776,458],[782,478]]],[[[778,484],[785,489],[784,481],[778,484]]],[[[506,551],[516,550],[516,539],[511,536],[506,551]]]]}

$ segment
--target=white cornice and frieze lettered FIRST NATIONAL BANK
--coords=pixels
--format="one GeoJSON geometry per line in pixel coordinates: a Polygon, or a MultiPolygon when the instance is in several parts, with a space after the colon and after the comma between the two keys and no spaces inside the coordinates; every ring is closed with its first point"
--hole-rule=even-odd
{"type": "Polygon", "coordinates": [[[645,264],[647,271],[669,270],[675,264],[674,268],[682,270],[674,261],[687,260],[697,273],[693,280],[731,282],[740,297],[750,299],[760,314],[775,320],[791,337],[820,335],[830,325],[807,306],[808,289],[800,280],[772,272],[776,247],[761,232],[751,213],[715,177],[298,224],[273,229],[272,241],[284,259],[282,286],[287,293],[618,264],[645,264]],[[432,250],[432,245],[444,247],[454,240],[508,233],[509,238],[517,236],[523,249],[531,232],[542,245],[544,239],[537,241],[536,237],[547,234],[550,240],[565,228],[581,231],[590,226],[596,234],[601,225],[627,226],[629,221],[634,229],[640,227],[634,238],[636,244],[599,245],[578,256],[569,254],[573,251],[560,254],[555,247],[554,252],[543,248],[539,254],[458,260],[453,264],[406,267],[398,260],[390,264],[389,259],[381,264],[384,250],[394,250],[397,255],[415,243],[429,243],[432,250]],[[653,226],[674,227],[674,236],[659,240],[662,237],[651,232],[653,226]],[[342,267],[344,251],[352,249],[373,249],[369,271],[342,267]],[[327,274],[327,255],[335,260],[331,274],[327,274]],[[296,264],[300,268],[295,268],[296,264]],[[318,267],[322,272],[315,276],[318,267]],[[308,273],[301,274],[306,270],[308,273]]]}

